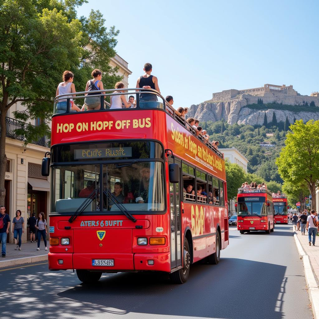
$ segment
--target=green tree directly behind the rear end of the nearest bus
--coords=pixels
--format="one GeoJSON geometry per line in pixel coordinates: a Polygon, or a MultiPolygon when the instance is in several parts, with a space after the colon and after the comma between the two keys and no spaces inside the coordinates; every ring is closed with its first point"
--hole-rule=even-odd
{"type": "Polygon", "coordinates": [[[243,183],[245,172],[237,164],[225,161],[226,181],[227,181],[227,197],[234,199],[237,196],[238,189],[243,183]]]}

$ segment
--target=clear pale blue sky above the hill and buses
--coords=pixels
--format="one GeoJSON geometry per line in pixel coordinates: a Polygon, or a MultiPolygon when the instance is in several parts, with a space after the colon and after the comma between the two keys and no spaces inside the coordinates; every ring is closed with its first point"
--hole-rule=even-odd
{"type": "Polygon", "coordinates": [[[135,87],[144,63],[153,65],[162,95],[174,107],[211,99],[213,92],[293,85],[319,91],[318,1],[89,0],[120,30],[117,53],[135,87]]]}

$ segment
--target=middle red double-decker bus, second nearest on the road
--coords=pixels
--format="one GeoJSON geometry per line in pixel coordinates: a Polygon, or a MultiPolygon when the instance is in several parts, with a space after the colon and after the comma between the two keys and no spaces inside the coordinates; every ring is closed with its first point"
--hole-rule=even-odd
{"type": "Polygon", "coordinates": [[[237,229],[241,234],[263,230],[267,234],[275,229],[272,194],[267,189],[238,189],[237,229]]]}

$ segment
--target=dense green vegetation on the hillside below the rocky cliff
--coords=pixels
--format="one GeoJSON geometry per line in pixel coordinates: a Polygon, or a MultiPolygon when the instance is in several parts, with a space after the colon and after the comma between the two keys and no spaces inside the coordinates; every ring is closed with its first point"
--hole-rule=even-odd
{"type": "MultiPolygon", "coordinates": [[[[274,118],[274,122],[276,119],[274,118]]],[[[251,125],[229,125],[224,121],[201,122],[210,135],[211,140],[218,140],[219,148],[237,148],[248,159],[248,172],[255,173],[265,181],[282,183],[275,163],[281,148],[285,145],[286,131],[282,125],[285,123],[268,123],[266,126],[254,127],[251,125]],[[279,125],[280,124],[280,125],[279,125]],[[279,128],[278,128],[279,127],[279,128]],[[269,143],[274,147],[264,148],[259,144],[269,143]]],[[[251,182],[251,181],[248,181],[251,182]]]]}

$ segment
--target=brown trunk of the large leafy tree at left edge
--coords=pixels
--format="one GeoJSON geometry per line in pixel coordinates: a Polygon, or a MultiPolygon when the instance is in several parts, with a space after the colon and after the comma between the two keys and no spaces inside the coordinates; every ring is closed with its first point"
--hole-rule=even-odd
{"type": "Polygon", "coordinates": [[[5,155],[5,136],[7,133],[7,126],[5,123],[5,112],[4,110],[0,113],[0,205],[4,205],[5,198],[5,188],[4,188],[4,179],[5,179],[5,166],[7,163],[7,156],[5,155]]]}

